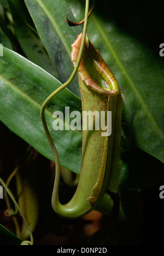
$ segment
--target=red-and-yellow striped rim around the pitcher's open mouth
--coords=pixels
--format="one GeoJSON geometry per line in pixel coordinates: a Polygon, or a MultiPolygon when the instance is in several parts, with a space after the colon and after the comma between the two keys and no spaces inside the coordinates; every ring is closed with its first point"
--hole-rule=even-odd
{"type": "MultiPolygon", "coordinates": [[[[79,49],[81,45],[83,33],[79,34],[75,42],[72,44],[72,61],[74,66],[77,63],[79,49]]],[[[95,73],[94,72],[94,73],[95,73]]],[[[99,55],[98,50],[96,50],[93,44],[90,42],[89,38],[85,38],[85,45],[83,50],[83,55],[81,58],[80,66],[78,69],[78,73],[81,76],[81,79],[84,80],[85,84],[89,86],[92,90],[98,92],[98,94],[103,94],[106,96],[114,96],[118,95],[119,85],[110,69],[108,68],[106,62],[102,59],[101,55],[99,55]],[[99,85],[97,79],[92,79],[92,68],[95,68],[95,72],[99,73],[102,78],[105,80],[104,88],[99,85]],[[97,82],[97,83],[96,83],[97,82]]]]}

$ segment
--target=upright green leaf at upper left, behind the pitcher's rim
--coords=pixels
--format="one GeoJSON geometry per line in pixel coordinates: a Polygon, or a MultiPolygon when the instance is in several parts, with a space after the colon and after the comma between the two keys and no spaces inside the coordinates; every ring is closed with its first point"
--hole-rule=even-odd
{"type": "MultiPolygon", "coordinates": [[[[80,34],[81,27],[69,27],[66,23],[68,11],[71,11],[65,1],[61,0],[25,0],[27,8],[48,54],[54,63],[62,83],[65,83],[73,71],[71,61],[71,44],[80,34]]],[[[84,15],[84,14],[83,14],[84,15]]],[[[80,97],[78,77],[68,89],[80,97]]]]}

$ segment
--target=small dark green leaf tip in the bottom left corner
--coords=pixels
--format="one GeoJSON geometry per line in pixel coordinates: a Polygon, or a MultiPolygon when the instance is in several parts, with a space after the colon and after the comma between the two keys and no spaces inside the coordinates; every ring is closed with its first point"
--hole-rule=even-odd
{"type": "Polygon", "coordinates": [[[22,240],[0,224],[0,245],[20,245],[22,240]]]}

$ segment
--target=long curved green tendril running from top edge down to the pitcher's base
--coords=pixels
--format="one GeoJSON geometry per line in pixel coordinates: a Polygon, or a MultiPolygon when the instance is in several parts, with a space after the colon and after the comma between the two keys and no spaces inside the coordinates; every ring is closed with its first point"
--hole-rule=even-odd
{"type": "Polygon", "coordinates": [[[58,94],[58,92],[62,91],[63,89],[65,89],[69,84],[71,84],[72,80],[75,77],[75,74],[78,71],[80,62],[81,62],[81,57],[83,55],[83,50],[84,50],[84,44],[85,44],[85,37],[86,37],[86,30],[87,30],[87,20],[88,20],[88,12],[89,12],[89,0],[86,0],[86,6],[85,6],[85,21],[84,21],[84,27],[83,27],[83,37],[81,40],[81,45],[80,45],[80,50],[79,50],[79,55],[78,55],[78,60],[77,60],[77,65],[75,66],[71,77],[67,80],[67,82],[63,85],[61,85],[59,88],[57,88],[54,92],[52,92],[52,94],[46,98],[46,100],[43,102],[41,110],[40,110],[40,117],[42,119],[42,123],[43,123],[43,127],[44,127],[44,131],[45,131],[45,135],[48,138],[50,147],[52,149],[52,152],[54,154],[54,158],[55,158],[55,168],[56,168],[56,181],[58,182],[60,179],[60,160],[58,157],[58,153],[55,147],[55,144],[52,140],[52,137],[50,135],[49,129],[48,129],[48,125],[46,124],[46,119],[45,119],[45,108],[48,105],[48,103],[52,100],[52,98],[58,94]]]}

